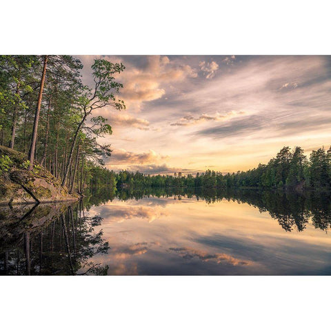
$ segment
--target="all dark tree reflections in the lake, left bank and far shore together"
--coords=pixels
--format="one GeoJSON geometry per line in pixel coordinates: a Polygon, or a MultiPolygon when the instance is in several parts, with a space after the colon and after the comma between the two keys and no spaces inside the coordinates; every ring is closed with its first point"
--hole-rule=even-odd
{"type": "Polygon", "coordinates": [[[150,188],[141,190],[99,189],[78,203],[16,205],[0,207],[0,273],[107,274],[108,265],[90,258],[107,254],[101,217],[86,217],[84,210],[112,199],[127,201],[144,197],[197,199],[217,203],[226,199],[248,203],[277,219],[283,230],[303,231],[308,223],[327,231],[331,227],[330,192],[284,192],[271,190],[194,190],[150,188]]]}

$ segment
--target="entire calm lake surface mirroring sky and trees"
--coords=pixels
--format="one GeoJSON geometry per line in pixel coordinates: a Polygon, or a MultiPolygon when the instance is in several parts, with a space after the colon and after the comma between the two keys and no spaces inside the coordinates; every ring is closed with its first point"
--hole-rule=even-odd
{"type": "Polygon", "coordinates": [[[98,190],[0,206],[0,274],[331,274],[331,193],[98,190]]]}

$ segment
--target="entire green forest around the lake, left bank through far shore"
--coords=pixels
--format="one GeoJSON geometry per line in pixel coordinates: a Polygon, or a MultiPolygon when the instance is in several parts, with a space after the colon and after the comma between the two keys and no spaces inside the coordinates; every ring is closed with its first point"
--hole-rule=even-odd
{"type": "MultiPolygon", "coordinates": [[[[0,57],[0,145],[28,156],[27,170],[43,167],[80,194],[86,186],[113,188],[331,188],[331,149],[319,148],[306,157],[303,149],[283,147],[268,164],[224,174],[214,170],[185,174],[146,175],[108,170],[104,159],[110,145],[99,137],[112,134],[100,108],[125,110],[117,99],[123,85],[117,77],[125,66],[95,59],[92,86],[84,85],[83,65],[64,55],[3,55],[0,57]]],[[[12,164],[0,155],[0,174],[12,164]]]]}

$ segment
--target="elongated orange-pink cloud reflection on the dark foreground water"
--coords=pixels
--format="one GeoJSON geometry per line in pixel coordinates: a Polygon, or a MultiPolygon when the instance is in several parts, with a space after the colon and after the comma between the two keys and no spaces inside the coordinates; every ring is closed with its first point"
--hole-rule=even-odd
{"type": "Polygon", "coordinates": [[[172,252],[177,252],[181,257],[183,257],[183,259],[187,260],[198,258],[204,262],[214,261],[216,263],[228,263],[231,265],[249,265],[252,263],[250,261],[236,259],[229,254],[210,254],[203,250],[194,250],[192,248],[169,248],[169,250],[172,252]]]}

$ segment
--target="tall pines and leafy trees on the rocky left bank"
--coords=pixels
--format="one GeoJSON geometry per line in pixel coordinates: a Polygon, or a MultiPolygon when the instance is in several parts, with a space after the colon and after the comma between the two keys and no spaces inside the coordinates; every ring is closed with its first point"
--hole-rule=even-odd
{"type": "Polygon", "coordinates": [[[82,192],[112,152],[97,141],[112,134],[98,110],[126,108],[116,97],[123,63],[95,59],[90,85],[83,84],[82,69],[68,55],[0,56],[0,145],[27,154],[28,170],[42,165],[70,192],[82,192]]]}

